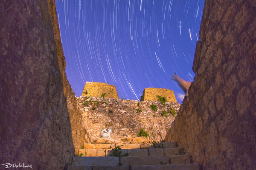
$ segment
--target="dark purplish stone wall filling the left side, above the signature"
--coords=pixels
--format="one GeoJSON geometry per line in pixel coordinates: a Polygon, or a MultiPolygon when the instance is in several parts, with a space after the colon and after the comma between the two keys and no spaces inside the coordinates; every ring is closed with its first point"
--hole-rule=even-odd
{"type": "Polygon", "coordinates": [[[63,170],[74,146],[48,3],[2,0],[0,17],[0,164],[63,170]]]}

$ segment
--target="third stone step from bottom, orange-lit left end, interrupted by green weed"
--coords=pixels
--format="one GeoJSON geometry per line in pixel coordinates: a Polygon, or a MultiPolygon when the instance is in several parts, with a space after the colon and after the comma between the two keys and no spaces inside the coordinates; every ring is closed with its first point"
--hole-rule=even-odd
{"type": "MultiPolygon", "coordinates": [[[[122,154],[128,153],[128,156],[171,156],[179,155],[180,148],[149,148],[149,149],[121,149],[122,154]]],[[[108,149],[79,149],[79,155],[82,156],[109,156],[112,150],[108,149]]]]}

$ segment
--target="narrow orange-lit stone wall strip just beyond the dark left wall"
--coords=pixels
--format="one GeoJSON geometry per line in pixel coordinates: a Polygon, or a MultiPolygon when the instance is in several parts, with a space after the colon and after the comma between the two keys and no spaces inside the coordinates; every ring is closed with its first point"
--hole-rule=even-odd
{"type": "MultiPolygon", "coordinates": [[[[67,80],[66,75],[66,61],[63,54],[62,44],[61,44],[61,35],[60,29],[58,25],[58,17],[56,12],[55,0],[47,0],[48,1],[48,8],[49,14],[51,17],[52,27],[54,31],[54,39],[56,44],[56,55],[58,57],[58,66],[61,72],[61,79],[63,85],[64,96],[67,103],[67,109],[70,116],[70,124],[72,128],[72,137],[73,137],[73,144],[75,149],[80,148],[83,146],[84,142],[91,142],[90,135],[87,134],[87,125],[86,123],[81,126],[81,112],[76,102],[76,97],[72,91],[71,85],[67,80]]],[[[47,9],[45,9],[47,10],[47,9]]]]}

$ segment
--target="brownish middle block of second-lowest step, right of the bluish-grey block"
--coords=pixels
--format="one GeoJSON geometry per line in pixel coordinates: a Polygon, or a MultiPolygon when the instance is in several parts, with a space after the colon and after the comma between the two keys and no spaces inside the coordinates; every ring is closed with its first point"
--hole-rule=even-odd
{"type": "Polygon", "coordinates": [[[168,156],[128,156],[121,157],[122,165],[149,165],[149,164],[169,164],[168,156]]]}

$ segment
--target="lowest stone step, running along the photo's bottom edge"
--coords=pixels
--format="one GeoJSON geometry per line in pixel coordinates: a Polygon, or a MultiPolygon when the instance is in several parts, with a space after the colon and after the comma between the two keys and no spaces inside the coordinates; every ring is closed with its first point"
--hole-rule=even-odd
{"type": "Polygon", "coordinates": [[[134,166],[68,166],[67,170],[199,170],[199,164],[162,164],[134,166]]]}

